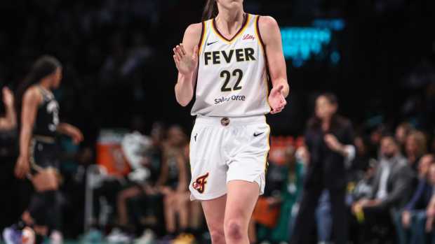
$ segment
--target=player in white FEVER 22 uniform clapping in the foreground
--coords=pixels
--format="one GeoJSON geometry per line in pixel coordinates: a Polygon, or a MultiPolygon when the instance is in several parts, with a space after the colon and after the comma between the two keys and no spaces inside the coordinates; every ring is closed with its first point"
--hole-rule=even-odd
{"type": "Polygon", "coordinates": [[[191,199],[201,201],[213,243],[248,244],[250,215],[265,188],[265,114],[281,112],[289,92],[278,24],[245,13],[243,0],[208,0],[204,21],[187,27],[173,51],[177,101],[187,106],[194,91],[196,98],[191,199]]]}

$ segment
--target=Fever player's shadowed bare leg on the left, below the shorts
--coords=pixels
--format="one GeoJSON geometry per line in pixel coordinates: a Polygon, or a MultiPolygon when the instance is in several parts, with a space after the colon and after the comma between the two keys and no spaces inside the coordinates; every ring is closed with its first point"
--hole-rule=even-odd
{"type": "Polygon", "coordinates": [[[211,243],[225,244],[224,216],[227,195],[217,199],[201,201],[206,215],[208,231],[210,231],[211,243]]]}

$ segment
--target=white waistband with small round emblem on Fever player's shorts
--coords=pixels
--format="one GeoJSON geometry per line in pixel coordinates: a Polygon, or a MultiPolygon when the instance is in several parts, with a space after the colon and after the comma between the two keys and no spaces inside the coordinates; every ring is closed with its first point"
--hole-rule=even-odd
{"type": "Polygon", "coordinates": [[[226,126],[243,126],[247,124],[260,124],[267,123],[265,115],[255,115],[255,116],[247,116],[247,117],[211,117],[211,116],[203,116],[196,115],[195,124],[205,124],[210,126],[223,126],[222,120],[229,120],[229,123],[226,126]]]}

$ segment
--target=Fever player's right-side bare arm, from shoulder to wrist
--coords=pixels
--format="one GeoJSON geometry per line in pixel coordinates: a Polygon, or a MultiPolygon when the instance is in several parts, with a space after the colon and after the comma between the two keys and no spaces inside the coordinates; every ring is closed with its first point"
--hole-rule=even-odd
{"type": "Polygon", "coordinates": [[[258,27],[265,44],[267,63],[273,87],[283,86],[283,96],[287,97],[290,87],[287,82],[286,60],[283,55],[281,32],[276,20],[270,16],[260,17],[258,27]]]}

